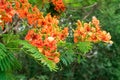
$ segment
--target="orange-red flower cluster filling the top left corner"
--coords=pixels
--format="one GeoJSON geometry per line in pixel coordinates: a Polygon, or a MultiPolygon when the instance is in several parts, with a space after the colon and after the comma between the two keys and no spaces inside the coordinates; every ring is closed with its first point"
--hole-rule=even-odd
{"type": "Polygon", "coordinates": [[[28,0],[0,1],[0,15],[2,16],[3,25],[5,23],[12,23],[12,18],[15,14],[20,19],[27,19],[30,25],[36,25],[38,18],[43,17],[39,9],[36,6],[32,7],[28,0]]]}

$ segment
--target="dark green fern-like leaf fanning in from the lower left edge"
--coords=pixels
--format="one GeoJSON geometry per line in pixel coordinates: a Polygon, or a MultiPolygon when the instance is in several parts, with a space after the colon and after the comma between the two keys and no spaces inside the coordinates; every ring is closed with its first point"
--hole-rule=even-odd
{"type": "Polygon", "coordinates": [[[20,64],[13,53],[8,51],[6,47],[0,43],[0,71],[9,71],[18,68],[20,68],[20,64]]]}

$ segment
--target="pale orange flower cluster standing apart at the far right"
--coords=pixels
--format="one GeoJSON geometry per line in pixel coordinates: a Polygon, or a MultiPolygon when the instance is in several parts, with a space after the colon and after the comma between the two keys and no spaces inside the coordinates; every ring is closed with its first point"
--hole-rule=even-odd
{"type": "Polygon", "coordinates": [[[89,23],[82,23],[80,20],[77,21],[77,28],[74,31],[75,43],[79,41],[113,43],[110,39],[110,33],[101,29],[99,20],[96,17],[93,17],[89,23]]]}

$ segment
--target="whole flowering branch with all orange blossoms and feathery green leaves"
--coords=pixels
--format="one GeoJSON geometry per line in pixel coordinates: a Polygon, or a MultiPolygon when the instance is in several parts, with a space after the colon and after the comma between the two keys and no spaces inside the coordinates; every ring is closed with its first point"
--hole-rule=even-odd
{"type": "MultiPolygon", "coordinates": [[[[20,51],[31,56],[38,64],[42,63],[51,71],[56,71],[61,61],[67,65],[78,58],[74,55],[85,56],[94,43],[113,43],[110,33],[101,29],[96,17],[89,23],[78,20],[76,29],[73,29],[74,42],[70,43],[66,40],[69,38],[69,26],[62,28],[59,24],[59,15],[66,8],[64,3],[62,0],[47,2],[50,5],[49,13],[44,16],[28,0],[0,1],[0,75],[11,73],[16,64],[20,68],[15,54],[20,51]]],[[[4,77],[0,79],[5,80],[4,77]]]]}

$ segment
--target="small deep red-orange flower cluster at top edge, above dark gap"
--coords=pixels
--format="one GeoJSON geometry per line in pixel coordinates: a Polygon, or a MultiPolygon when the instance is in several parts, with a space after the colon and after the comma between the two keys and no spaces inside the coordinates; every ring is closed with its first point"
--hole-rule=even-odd
{"type": "Polygon", "coordinates": [[[66,7],[63,3],[62,0],[51,0],[52,4],[55,6],[54,10],[56,10],[57,12],[64,12],[66,7]]]}

